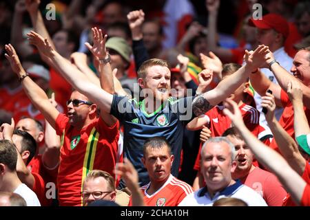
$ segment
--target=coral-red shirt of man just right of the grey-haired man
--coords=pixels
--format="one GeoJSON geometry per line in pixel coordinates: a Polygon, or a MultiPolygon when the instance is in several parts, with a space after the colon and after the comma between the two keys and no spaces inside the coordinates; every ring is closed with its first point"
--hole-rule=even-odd
{"type": "Polygon", "coordinates": [[[282,206],[283,199],[287,195],[275,175],[258,167],[247,175],[242,184],[256,190],[265,199],[268,206],[282,206]]]}

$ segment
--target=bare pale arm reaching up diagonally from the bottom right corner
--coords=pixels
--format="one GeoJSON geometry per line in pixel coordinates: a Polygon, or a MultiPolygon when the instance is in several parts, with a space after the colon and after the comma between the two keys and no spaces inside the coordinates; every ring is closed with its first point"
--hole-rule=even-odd
{"type": "Polygon", "coordinates": [[[287,164],[287,161],[279,153],[260,142],[260,140],[247,129],[236,102],[227,99],[225,105],[229,109],[224,109],[224,113],[234,123],[234,126],[238,129],[242,139],[245,140],[247,145],[251,148],[256,159],[278,177],[283,186],[287,189],[287,192],[291,194],[293,200],[297,204],[300,204],[304,188],[307,186],[304,179],[287,164]],[[283,170],[285,170],[285,172],[283,170]]]}

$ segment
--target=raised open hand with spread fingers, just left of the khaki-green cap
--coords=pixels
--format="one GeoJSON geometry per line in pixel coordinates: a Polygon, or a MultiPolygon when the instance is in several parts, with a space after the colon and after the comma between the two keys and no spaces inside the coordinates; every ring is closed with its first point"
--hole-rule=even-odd
{"type": "Polygon", "coordinates": [[[103,37],[102,30],[97,28],[92,28],[92,36],[94,39],[94,45],[86,42],[85,46],[92,52],[92,54],[99,58],[99,60],[104,59],[107,56],[107,49],[105,48],[105,42],[107,41],[107,34],[103,37]]]}

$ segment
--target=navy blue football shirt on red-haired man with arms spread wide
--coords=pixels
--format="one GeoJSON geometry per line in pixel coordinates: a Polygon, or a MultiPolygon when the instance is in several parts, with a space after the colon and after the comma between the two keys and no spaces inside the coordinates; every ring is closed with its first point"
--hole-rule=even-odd
{"type": "Polygon", "coordinates": [[[193,96],[179,100],[170,97],[154,113],[148,114],[144,100],[137,102],[126,96],[113,96],[110,113],[124,126],[124,155],[138,171],[140,186],[149,182],[147,170],[141,162],[143,144],[149,137],[165,137],[172,146],[172,175],[178,176],[183,129],[194,118],[193,100],[193,96]]]}

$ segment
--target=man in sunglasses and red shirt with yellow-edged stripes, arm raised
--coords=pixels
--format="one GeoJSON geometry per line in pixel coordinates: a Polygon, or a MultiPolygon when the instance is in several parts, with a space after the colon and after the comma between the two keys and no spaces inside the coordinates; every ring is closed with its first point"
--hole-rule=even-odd
{"type": "MultiPolygon", "coordinates": [[[[118,153],[118,122],[105,111],[99,114],[97,104],[90,102],[79,91],[73,91],[67,102],[68,115],[59,113],[45,92],[25,72],[14,47],[6,45],[6,51],[6,58],[19,77],[25,93],[54,127],[57,135],[62,136],[57,177],[59,203],[61,206],[81,206],[82,183],[90,170],[105,170],[115,177],[113,170],[118,153]]],[[[69,61],[66,65],[72,66],[69,61]]],[[[90,84],[92,88],[96,87],[90,84]]]]}

